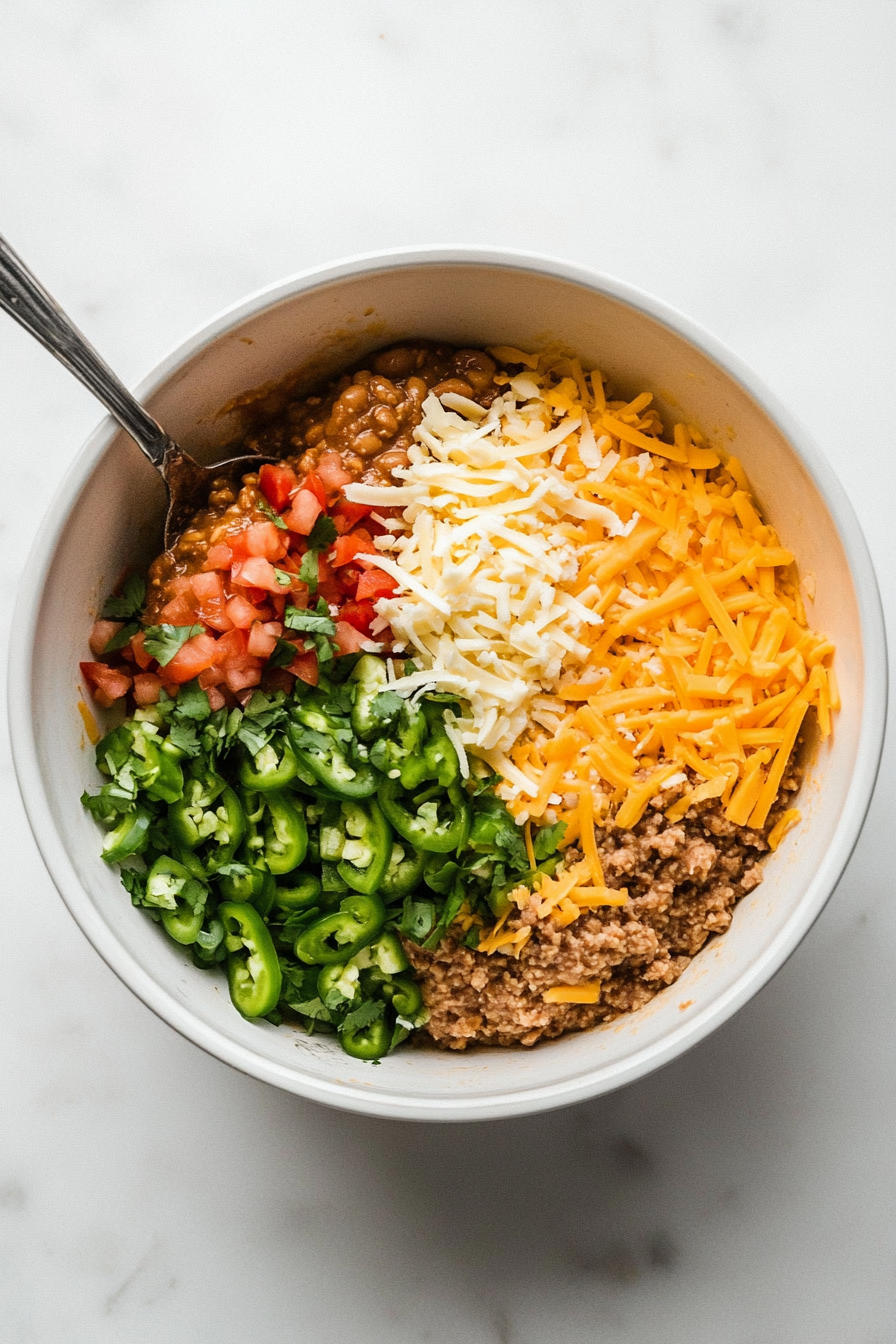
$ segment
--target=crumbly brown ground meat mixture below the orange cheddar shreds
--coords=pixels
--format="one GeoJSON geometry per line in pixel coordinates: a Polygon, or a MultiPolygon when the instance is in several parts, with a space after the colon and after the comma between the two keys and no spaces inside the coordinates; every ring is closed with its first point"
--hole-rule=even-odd
{"type": "Polygon", "coordinates": [[[508,927],[536,927],[519,958],[472,952],[453,938],[434,952],[406,941],[430,1009],[430,1042],[449,1050],[533,1046],[642,1008],[711,935],[728,929],[737,900],[762,882],[766,836],[798,788],[794,769],[762,832],[727,821],[717,800],[669,825],[661,809],[681,790],[654,798],[631,831],[598,832],[607,886],[626,887],[630,900],[580,915],[566,929],[523,910],[508,927]],[[553,985],[595,980],[602,982],[595,1004],[544,1001],[553,985]]]}

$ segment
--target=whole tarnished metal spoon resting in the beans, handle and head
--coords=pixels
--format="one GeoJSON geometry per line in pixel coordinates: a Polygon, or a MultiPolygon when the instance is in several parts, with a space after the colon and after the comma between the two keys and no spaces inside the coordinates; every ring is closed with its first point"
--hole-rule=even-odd
{"type": "Polygon", "coordinates": [[[99,358],[55,298],[32,276],[21,258],[0,235],[0,308],[46,345],[114,415],[137,448],[161,472],[168,488],[165,547],[176,540],[192,515],[208,501],[211,482],[220,476],[235,480],[275,458],[251,453],[203,466],[180,448],[152,418],[136,396],[99,358]]]}

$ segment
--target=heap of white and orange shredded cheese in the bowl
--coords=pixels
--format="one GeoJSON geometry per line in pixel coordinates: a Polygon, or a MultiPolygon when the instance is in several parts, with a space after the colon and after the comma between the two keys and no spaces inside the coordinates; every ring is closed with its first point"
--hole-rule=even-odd
{"type": "MultiPolygon", "coordinates": [[[[834,648],[737,458],[693,425],[664,437],[649,392],[607,401],[575,359],[493,353],[523,372],[488,411],[430,394],[402,484],[345,493],[395,511],[361,556],[399,583],[376,612],[418,671],[395,689],[466,702],[453,731],[501,774],[531,862],[531,818],[579,843],[583,863],[514,894],[563,926],[626,899],[600,870],[609,817],[634,827],[673,790],[670,823],[719,798],[728,821],[767,824],[809,708],[832,731],[834,648]]],[[[482,950],[519,956],[531,929],[505,922],[482,950]]]]}

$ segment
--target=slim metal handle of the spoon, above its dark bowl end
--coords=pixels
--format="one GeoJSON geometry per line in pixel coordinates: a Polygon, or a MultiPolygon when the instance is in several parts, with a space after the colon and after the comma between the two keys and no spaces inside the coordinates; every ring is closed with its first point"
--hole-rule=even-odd
{"type": "Polygon", "coordinates": [[[153,466],[161,470],[165,450],[173,446],[173,441],[124,383],[118,382],[90,341],[1,235],[0,308],[5,308],[11,317],[21,323],[26,331],[36,336],[51,355],[81,379],[130,434],[153,466]]]}

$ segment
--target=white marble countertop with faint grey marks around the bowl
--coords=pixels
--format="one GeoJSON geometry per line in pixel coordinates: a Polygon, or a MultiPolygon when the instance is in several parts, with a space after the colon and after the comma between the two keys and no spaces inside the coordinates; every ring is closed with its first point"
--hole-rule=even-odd
{"type": "MultiPolygon", "coordinates": [[[[126,380],[282,274],[412,242],[653,290],[829,454],[896,593],[887,0],[31,0],[0,228],[126,380]]],[[[4,629],[98,419],[0,321],[4,629]]],[[[368,1121],[232,1073],[87,945],[0,782],[8,1344],[896,1340],[885,755],[827,910],[676,1064],[533,1120],[368,1121]]]]}

